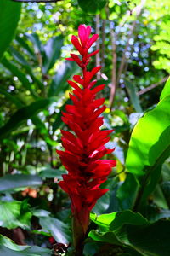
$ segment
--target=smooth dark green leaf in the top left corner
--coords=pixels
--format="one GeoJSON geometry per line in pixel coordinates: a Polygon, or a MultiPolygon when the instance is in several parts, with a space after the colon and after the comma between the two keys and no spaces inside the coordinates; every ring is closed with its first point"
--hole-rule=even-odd
{"type": "Polygon", "coordinates": [[[0,59],[14,38],[14,32],[20,20],[20,9],[21,3],[0,1],[0,59]]]}

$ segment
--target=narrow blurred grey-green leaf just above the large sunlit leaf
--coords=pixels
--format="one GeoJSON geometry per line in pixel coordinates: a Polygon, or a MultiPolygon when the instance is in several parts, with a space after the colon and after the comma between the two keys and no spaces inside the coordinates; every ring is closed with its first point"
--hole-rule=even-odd
{"type": "Polygon", "coordinates": [[[125,80],[125,85],[127,87],[128,95],[130,96],[130,100],[133,103],[133,107],[136,112],[142,112],[142,108],[139,102],[139,96],[136,93],[136,88],[131,81],[125,80]]]}

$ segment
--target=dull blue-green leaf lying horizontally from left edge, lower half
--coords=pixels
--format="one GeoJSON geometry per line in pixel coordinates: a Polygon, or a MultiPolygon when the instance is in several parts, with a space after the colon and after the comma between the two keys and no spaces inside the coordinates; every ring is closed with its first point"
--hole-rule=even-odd
{"type": "Polygon", "coordinates": [[[7,174],[0,178],[0,192],[40,185],[42,179],[37,175],[7,174]]]}

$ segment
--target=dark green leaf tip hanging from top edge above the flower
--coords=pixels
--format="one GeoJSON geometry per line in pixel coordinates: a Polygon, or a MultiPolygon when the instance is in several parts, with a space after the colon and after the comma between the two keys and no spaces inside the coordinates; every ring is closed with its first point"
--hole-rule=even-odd
{"type": "Polygon", "coordinates": [[[106,0],[78,0],[78,4],[82,10],[89,14],[99,13],[105,7],[106,0]]]}

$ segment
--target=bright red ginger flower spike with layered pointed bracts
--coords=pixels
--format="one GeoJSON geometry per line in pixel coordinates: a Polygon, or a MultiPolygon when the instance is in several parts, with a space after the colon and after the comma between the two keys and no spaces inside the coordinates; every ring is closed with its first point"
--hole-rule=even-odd
{"type": "Polygon", "coordinates": [[[68,174],[63,175],[63,181],[59,186],[71,198],[71,211],[76,221],[76,232],[86,234],[88,230],[89,213],[96,201],[108,191],[100,189],[101,183],[111,173],[111,168],[116,166],[116,160],[100,160],[105,154],[111,154],[114,149],[105,148],[108,143],[109,134],[113,130],[102,131],[103,118],[100,114],[105,111],[105,98],[96,99],[96,94],[103,90],[105,84],[96,86],[96,80],[92,80],[101,67],[94,67],[87,71],[87,65],[92,55],[99,51],[88,54],[88,49],[97,40],[98,35],[91,38],[91,27],[80,25],[78,27],[78,38],[72,36],[71,42],[82,57],[71,54],[67,60],[76,61],[82,68],[83,76],[75,75],[74,81],[68,81],[74,89],[70,98],[73,105],[66,105],[66,112],[62,120],[73,131],[62,132],[62,145],[65,151],[57,150],[62,164],[68,174]]]}

